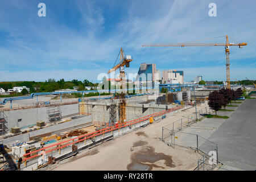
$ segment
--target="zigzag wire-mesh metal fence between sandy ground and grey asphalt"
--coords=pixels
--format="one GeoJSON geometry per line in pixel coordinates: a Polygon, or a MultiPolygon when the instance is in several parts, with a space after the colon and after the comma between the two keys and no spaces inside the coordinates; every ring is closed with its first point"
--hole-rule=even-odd
{"type": "Polygon", "coordinates": [[[198,134],[185,133],[183,129],[203,119],[205,114],[212,112],[212,109],[205,107],[204,109],[197,110],[196,113],[183,116],[183,118],[162,127],[162,141],[168,144],[168,146],[173,148],[175,146],[189,147],[203,155],[202,159],[199,159],[198,169],[212,169],[216,167],[218,164],[218,146],[216,143],[198,134]]]}

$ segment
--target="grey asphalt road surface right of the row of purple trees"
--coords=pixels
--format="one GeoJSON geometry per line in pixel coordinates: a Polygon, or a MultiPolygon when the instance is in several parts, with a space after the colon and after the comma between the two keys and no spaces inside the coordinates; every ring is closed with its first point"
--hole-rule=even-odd
{"type": "Polygon", "coordinates": [[[245,100],[208,139],[218,144],[220,162],[256,170],[256,99],[245,100]]]}

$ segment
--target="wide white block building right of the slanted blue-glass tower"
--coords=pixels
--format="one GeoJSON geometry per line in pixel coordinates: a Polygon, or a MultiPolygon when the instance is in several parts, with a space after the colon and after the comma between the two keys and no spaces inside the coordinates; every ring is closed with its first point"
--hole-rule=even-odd
{"type": "Polygon", "coordinates": [[[162,83],[166,83],[170,80],[178,80],[180,84],[184,83],[184,72],[169,69],[162,72],[162,83]]]}

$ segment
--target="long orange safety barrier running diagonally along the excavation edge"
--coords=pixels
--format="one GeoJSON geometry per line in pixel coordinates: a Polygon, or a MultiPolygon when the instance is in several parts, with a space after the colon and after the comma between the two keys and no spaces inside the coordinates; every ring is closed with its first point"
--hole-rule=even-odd
{"type": "MultiPolygon", "coordinates": [[[[134,125],[134,124],[136,124],[136,123],[138,123],[138,122],[146,121],[146,120],[149,119],[150,117],[157,117],[157,116],[159,116],[159,115],[167,114],[167,113],[170,113],[171,111],[174,111],[174,110],[177,110],[177,109],[181,109],[181,108],[182,108],[181,106],[177,106],[177,107],[174,107],[174,108],[172,108],[172,109],[160,111],[159,113],[154,113],[154,114],[146,115],[146,116],[144,116],[144,117],[142,117],[142,118],[134,119],[134,120],[132,120],[132,121],[127,121],[127,122],[121,123],[121,124],[119,124],[119,125],[117,125],[117,126],[107,127],[107,128],[105,128],[105,129],[101,129],[101,130],[98,130],[98,131],[94,131],[93,133],[81,135],[81,136],[79,136],[79,137],[77,137],[77,138],[72,138],[72,139],[65,140],[65,141],[60,142],[60,143],[53,144],[53,145],[48,146],[48,147],[40,148],[39,150],[35,150],[35,151],[29,152],[29,153],[27,153],[27,154],[24,154],[23,156],[27,156],[27,155],[33,154],[33,153],[35,153],[35,152],[39,152],[39,151],[42,151],[42,150],[46,150],[47,148],[60,145],[61,143],[67,143],[67,142],[69,142],[69,141],[71,141],[71,140],[75,140],[75,139],[80,139],[80,138],[82,138],[82,137],[86,137],[86,138],[77,140],[77,141],[75,141],[75,142],[65,144],[64,146],[60,146],[60,147],[57,147],[57,148],[53,148],[52,150],[48,150],[48,151],[45,151],[45,152],[48,153],[48,152],[51,152],[51,151],[53,151],[53,150],[59,150],[60,148],[67,147],[67,146],[72,145],[72,144],[74,144],[74,143],[79,143],[79,142],[81,142],[81,141],[83,141],[83,140],[86,140],[86,139],[89,139],[89,138],[92,138],[92,137],[96,137],[96,136],[98,136],[98,135],[105,134],[105,133],[108,133],[108,132],[113,131],[113,130],[121,129],[122,127],[126,127],[126,126],[129,126],[129,125],[134,125]],[[87,136],[89,136],[89,137],[87,137],[87,136]]],[[[30,157],[28,157],[28,158],[24,158],[23,161],[28,160],[28,159],[31,159],[31,158],[35,158],[36,156],[39,156],[39,155],[43,155],[43,154],[36,154],[36,155],[30,156],[30,157]]]]}

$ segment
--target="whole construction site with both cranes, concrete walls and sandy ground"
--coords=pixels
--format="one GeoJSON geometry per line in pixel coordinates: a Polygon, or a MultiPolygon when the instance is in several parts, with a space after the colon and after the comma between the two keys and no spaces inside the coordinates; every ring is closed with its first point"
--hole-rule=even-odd
{"type": "MultiPolygon", "coordinates": [[[[229,46],[246,46],[246,43],[229,44],[226,36],[226,43],[217,46],[225,46],[226,50],[226,86],[160,84],[154,88],[140,87],[138,89],[143,92],[139,94],[127,94],[125,67],[129,68],[133,59],[124,55],[121,48],[119,63],[108,72],[119,69],[121,88],[108,97],[71,100],[61,99],[61,95],[72,92],[53,92],[6,98],[0,108],[1,169],[148,171],[219,168],[222,164],[218,157],[207,167],[202,167],[200,162],[201,158],[204,158],[203,164],[212,160],[209,151],[218,155],[217,144],[197,134],[195,146],[184,146],[177,144],[179,139],[175,137],[176,130],[181,132],[213,112],[207,105],[211,91],[237,87],[230,85],[229,46]],[[162,88],[168,92],[160,93],[162,88]],[[60,99],[52,101],[56,95],[60,99]]],[[[84,96],[92,91],[75,93],[78,92],[84,96]]],[[[104,93],[106,90],[93,92],[104,93]]]]}

